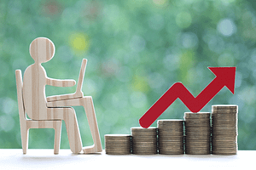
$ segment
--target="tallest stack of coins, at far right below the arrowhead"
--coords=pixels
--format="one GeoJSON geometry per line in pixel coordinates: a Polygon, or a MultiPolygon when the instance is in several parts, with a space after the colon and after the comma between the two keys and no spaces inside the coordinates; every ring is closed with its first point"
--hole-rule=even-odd
{"type": "Polygon", "coordinates": [[[237,105],[212,105],[212,154],[236,155],[237,105]]]}

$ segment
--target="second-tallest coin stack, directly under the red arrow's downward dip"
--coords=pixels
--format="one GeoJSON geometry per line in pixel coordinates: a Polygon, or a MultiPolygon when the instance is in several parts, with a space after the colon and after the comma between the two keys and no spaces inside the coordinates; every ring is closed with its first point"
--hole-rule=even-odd
{"type": "Polygon", "coordinates": [[[211,153],[211,113],[185,112],[185,153],[207,155],[211,153]]]}

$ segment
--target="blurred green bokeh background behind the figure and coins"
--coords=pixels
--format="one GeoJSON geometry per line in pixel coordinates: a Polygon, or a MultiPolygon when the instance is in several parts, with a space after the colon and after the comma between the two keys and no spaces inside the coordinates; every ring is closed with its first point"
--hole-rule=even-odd
{"type": "MultiPolygon", "coordinates": [[[[88,59],[83,92],[94,100],[103,148],[104,134],[131,133],[174,82],[196,96],[214,78],[207,66],[236,66],[235,94],[223,88],[202,111],[238,105],[238,149],[255,150],[255,7],[245,0],[1,0],[0,148],[21,148],[15,70],[23,75],[33,63],[29,44],[48,37],[55,43],[55,57],[43,64],[48,77],[77,80],[88,59]]],[[[75,88],[46,87],[46,94],[75,88]]],[[[93,144],[83,108],[75,110],[84,146],[93,144]]],[[[159,119],[185,111],[177,99],[159,119]]],[[[53,129],[30,130],[29,148],[53,144],[53,129]]]]}

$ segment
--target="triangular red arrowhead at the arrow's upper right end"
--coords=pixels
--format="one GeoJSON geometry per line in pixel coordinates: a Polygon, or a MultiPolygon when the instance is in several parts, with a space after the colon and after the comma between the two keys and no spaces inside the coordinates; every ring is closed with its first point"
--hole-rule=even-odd
{"type": "Polygon", "coordinates": [[[219,83],[223,83],[224,86],[230,89],[232,94],[235,93],[235,77],[236,67],[208,67],[216,79],[218,78],[219,83]]]}

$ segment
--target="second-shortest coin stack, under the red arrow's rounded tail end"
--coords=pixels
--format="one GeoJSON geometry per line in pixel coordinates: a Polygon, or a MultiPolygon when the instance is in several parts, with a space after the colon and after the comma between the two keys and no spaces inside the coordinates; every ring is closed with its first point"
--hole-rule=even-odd
{"type": "Polygon", "coordinates": [[[132,153],[137,155],[157,154],[157,128],[131,127],[132,153]]]}

